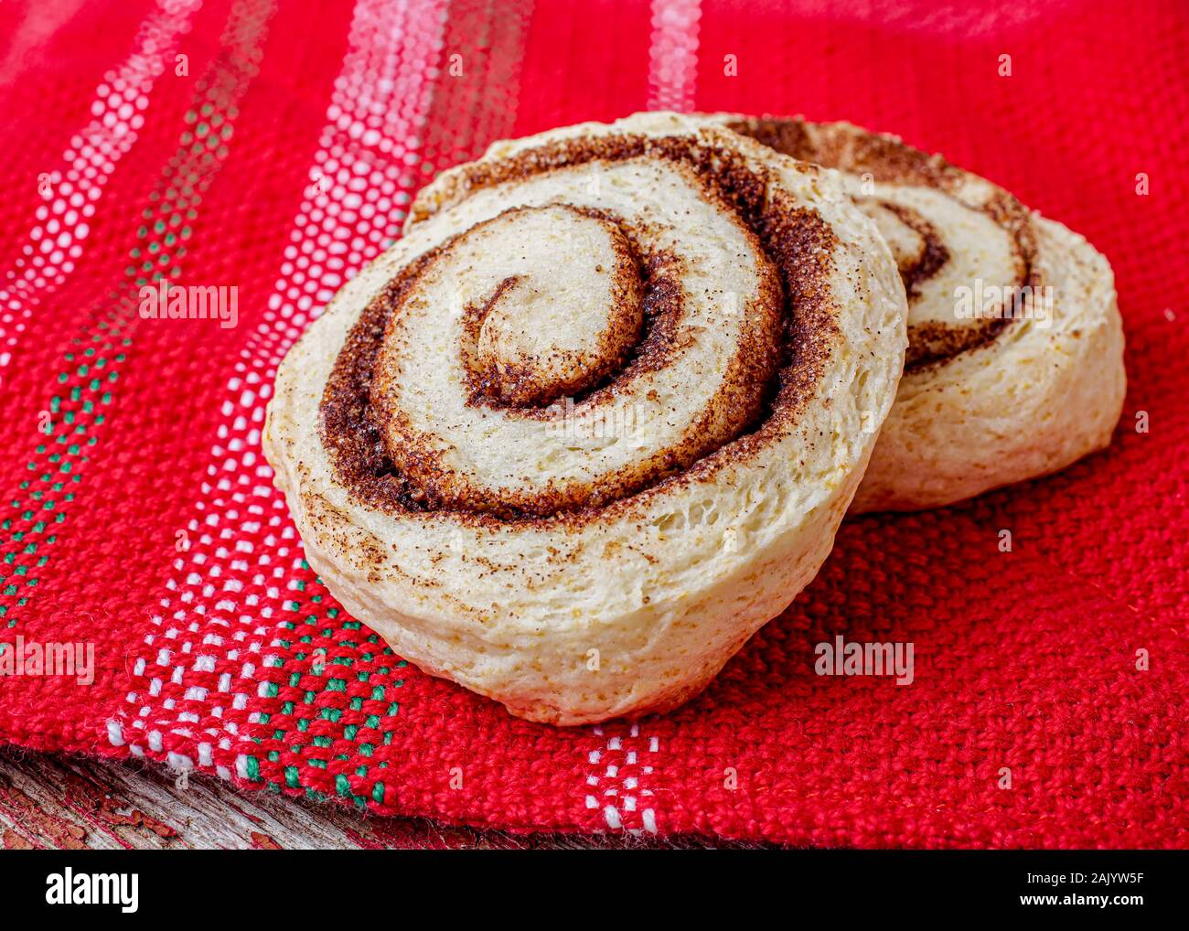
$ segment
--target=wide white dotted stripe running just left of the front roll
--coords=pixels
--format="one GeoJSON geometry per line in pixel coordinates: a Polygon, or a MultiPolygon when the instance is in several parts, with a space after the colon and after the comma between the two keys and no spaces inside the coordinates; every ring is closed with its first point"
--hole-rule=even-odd
{"type": "MultiPolygon", "coordinates": [[[[375,258],[398,233],[414,185],[421,131],[429,111],[442,48],[446,0],[432,4],[386,0],[357,2],[348,54],[334,82],[327,124],[294,220],[279,277],[264,319],[250,334],[221,401],[222,421],[210,448],[207,479],[194,504],[191,549],[175,560],[161,599],[156,630],[145,637],[134,669],[149,679],[147,696],[127,703],[134,740],[159,753],[162,731],[209,737],[229,749],[233,722],[195,735],[193,712],[170,700],[150,702],[169,680],[184,687],[212,717],[222,704],[249,707],[249,696],[266,682],[257,669],[277,663],[268,650],[271,618],[301,578],[301,541],[272,472],[259,458],[260,429],[276,369],[306,326],[339,287],[375,258]],[[253,593],[244,595],[250,589],[253,593]],[[263,597],[254,592],[263,591],[263,597]],[[187,687],[190,672],[219,667],[215,694],[187,687]],[[156,716],[156,717],[155,717],[156,716]],[[228,736],[229,735],[229,736],[228,736]]],[[[250,718],[251,719],[251,718],[250,718]]],[[[109,740],[127,741],[119,722],[109,740]]],[[[245,738],[246,740],[246,738],[245,738]]],[[[200,761],[201,762],[201,761],[200,761]]],[[[246,775],[246,759],[237,772],[246,775]]]]}

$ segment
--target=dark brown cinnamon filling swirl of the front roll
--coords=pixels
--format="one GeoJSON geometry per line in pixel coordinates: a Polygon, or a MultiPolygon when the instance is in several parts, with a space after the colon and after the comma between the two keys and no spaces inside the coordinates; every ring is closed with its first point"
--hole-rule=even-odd
{"type": "MultiPolygon", "coordinates": [[[[625,504],[640,496],[658,493],[674,483],[709,477],[730,461],[744,460],[795,426],[797,417],[814,389],[828,361],[837,329],[828,276],[837,246],[833,232],[820,215],[794,206],[775,193],[769,196],[768,178],[747,165],[737,152],[699,144],[681,137],[609,137],[598,140],[566,140],[528,150],[495,163],[472,165],[455,176],[441,207],[467,196],[477,188],[501,184],[579,165],[594,159],[621,161],[647,155],[691,168],[702,184],[723,201],[754,235],[759,249],[773,263],[779,281],[772,289],[780,315],[779,345],[749,346],[731,360],[726,394],[722,403],[743,404],[737,411],[742,428],[712,447],[694,440],[704,424],[692,423],[691,441],[666,458],[648,464],[644,480],[591,487],[581,498],[542,493],[514,505],[459,499],[447,480],[448,468],[435,459],[432,448],[402,448],[401,468],[394,463],[385,440],[401,411],[389,409],[383,397],[373,396],[380,348],[394,314],[401,312],[405,294],[419,277],[448,250],[443,243],[405,266],[364,308],[335,361],[323,392],[320,414],[322,441],[332,454],[339,480],[363,502],[385,510],[466,515],[486,521],[587,521],[597,520],[606,508],[625,504]],[[747,390],[731,391],[735,383],[747,390]],[[690,455],[690,451],[694,451],[690,455]],[[423,457],[423,458],[414,458],[423,457]],[[409,467],[411,464],[411,468],[409,467]],[[410,473],[416,473],[413,478],[410,473]],[[436,477],[441,477],[441,483],[436,477]]],[[[421,214],[424,219],[428,214],[421,214]]],[[[624,231],[630,238],[630,231],[624,231]]],[[[466,235],[466,233],[461,234],[466,235]]],[[[573,404],[600,404],[617,392],[630,390],[630,382],[643,371],[661,369],[674,351],[681,319],[681,259],[672,254],[650,254],[633,240],[636,265],[635,300],[642,304],[642,325],[628,352],[615,365],[577,385],[573,404]]],[[[486,307],[468,308],[466,332],[474,334],[485,313],[515,282],[501,282],[486,307]]],[[[762,288],[763,290],[763,288],[762,288]]],[[[633,298],[633,285],[623,291],[633,298]]],[[[464,352],[464,359],[466,359],[464,352]]],[[[470,358],[474,363],[474,357],[470,358]]],[[[468,401],[499,409],[504,416],[548,420],[560,416],[559,405],[542,407],[549,396],[517,394],[523,375],[492,371],[472,364],[468,373],[468,401]]],[[[397,429],[400,433],[400,429],[397,429]]]]}

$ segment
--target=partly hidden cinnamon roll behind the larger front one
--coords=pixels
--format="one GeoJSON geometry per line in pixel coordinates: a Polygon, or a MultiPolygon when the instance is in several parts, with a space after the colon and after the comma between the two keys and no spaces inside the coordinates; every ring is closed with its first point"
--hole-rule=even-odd
{"type": "Polygon", "coordinates": [[[1064,468],[1111,442],[1126,376],[1111,265],[1006,190],[845,122],[715,124],[839,169],[908,295],[899,396],[851,510],[914,510],[1064,468]]]}

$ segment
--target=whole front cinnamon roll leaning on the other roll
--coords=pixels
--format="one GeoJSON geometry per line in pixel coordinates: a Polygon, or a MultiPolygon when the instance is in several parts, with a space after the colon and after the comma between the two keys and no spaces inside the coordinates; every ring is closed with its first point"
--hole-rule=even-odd
{"type": "Polygon", "coordinates": [[[402,656],[559,724],[704,687],[817,572],[904,361],[833,172],[640,114],[497,143],[285,358],[264,446],[402,656]]]}

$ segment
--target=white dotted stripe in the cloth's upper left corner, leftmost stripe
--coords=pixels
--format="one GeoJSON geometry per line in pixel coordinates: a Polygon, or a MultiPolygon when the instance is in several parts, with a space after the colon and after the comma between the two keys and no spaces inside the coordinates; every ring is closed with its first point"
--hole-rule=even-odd
{"type": "Polygon", "coordinates": [[[0,278],[0,367],[12,361],[33,310],[74,271],[103,187],[136,143],[153,84],[174,65],[175,49],[201,5],[159,0],[137,30],[132,54],[95,88],[90,122],[70,138],[61,164],[37,178],[49,200],[38,206],[20,254],[0,278]]]}

